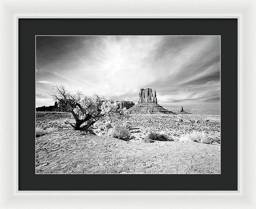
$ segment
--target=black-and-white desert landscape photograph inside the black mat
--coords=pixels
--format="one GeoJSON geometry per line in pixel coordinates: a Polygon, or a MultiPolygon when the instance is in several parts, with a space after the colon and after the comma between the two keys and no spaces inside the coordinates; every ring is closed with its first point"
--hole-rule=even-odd
{"type": "Polygon", "coordinates": [[[35,36],[35,174],[221,174],[221,36],[35,36]]]}

